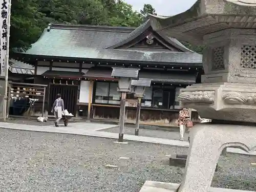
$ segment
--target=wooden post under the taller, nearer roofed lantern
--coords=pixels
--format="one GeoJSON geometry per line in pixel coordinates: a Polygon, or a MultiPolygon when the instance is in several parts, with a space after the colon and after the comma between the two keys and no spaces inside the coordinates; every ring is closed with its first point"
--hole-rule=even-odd
{"type": "Polygon", "coordinates": [[[121,92],[120,114],[119,114],[119,137],[118,142],[123,142],[124,117],[125,117],[126,92],[121,92]]]}

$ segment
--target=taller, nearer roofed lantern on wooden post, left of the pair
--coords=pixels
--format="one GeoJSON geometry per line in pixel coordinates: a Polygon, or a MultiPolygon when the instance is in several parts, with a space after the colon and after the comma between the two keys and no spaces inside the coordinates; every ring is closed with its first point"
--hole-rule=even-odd
{"type": "Polygon", "coordinates": [[[123,142],[124,117],[126,93],[131,92],[132,79],[138,79],[139,69],[112,68],[111,76],[118,78],[117,91],[121,92],[120,115],[119,115],[119,137],[118,142],[123,142]]]}

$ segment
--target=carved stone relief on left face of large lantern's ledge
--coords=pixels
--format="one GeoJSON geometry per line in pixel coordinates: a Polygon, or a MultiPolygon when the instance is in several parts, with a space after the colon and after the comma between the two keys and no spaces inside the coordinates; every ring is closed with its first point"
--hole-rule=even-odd
{"type": "Polygon", "coordinates": [[[214,103],[215,91],[185,91],[178,99],[183,103],[214,103]]]}

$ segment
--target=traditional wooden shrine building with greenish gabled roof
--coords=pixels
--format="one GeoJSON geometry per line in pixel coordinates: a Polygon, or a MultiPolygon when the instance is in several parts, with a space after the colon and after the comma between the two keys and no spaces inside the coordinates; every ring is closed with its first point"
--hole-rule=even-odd
{"type": "MultiPolygon", "coordinates": [[[[65,108],[76,117],[104,121],[119,119],[112,67],[138,68],[139,78],[152,80],[141,102],[141,124],[150,125],[175,125],[179,90],[201,82],[203,73],[202,55],[155,32],[150,20],[138,28],[49,24],[29,50],[13,58],[34,66],[34,83],[48,85],[47,114],[53,115],[51,106],[61,93],[65,108]]],[[[135,122],[136,101],[127,95],[127,123],[135,122]]]]}

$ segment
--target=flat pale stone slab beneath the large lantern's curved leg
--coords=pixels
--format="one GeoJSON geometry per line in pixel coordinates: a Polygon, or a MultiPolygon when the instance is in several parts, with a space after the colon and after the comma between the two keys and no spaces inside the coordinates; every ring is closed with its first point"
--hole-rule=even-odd
{"type": "MultiPolygon", "coordinates": [[[[177,184],[177,183],[146,181],[139,192],[176,192],[179,186],[180,184],[177,184]]],[[[249,192],[249,191],[210,187],[209,192],[249,192]]],[[[250,191],[250,192],[256,192],[256,191],[250,191]]]]}

